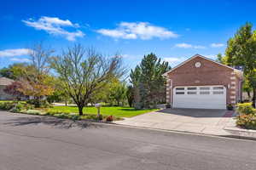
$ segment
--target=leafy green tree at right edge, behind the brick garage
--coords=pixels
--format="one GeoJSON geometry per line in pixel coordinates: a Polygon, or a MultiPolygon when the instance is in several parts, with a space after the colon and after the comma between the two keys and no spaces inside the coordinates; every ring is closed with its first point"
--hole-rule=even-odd
{"type": "Polygon", "coordinates": [[[228,41],[225,54],[232,66],[241,66],[249,86],[253,88],[253,106],[256,99],[256,31],[246,23],[228,41]]]}

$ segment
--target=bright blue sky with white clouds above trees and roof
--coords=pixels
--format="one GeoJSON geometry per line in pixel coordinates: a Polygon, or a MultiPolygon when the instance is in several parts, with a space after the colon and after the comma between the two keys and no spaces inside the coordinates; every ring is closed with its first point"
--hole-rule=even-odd
{"type": "Polygon", "coordinates": [[[133,68],[153,52],[177,65],[194,54],[214,59],[246,21],[256,25],[255,1],[3,0],[0,68],[29,61],[34,42],[60,53],[79,42],[119,53],[133,68]]]}

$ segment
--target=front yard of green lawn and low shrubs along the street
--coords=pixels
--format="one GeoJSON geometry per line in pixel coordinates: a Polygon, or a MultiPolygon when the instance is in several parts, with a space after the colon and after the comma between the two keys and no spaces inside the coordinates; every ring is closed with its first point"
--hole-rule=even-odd
{"type": "Polygon", "coordinates": [[[150,111],[156,111],[156,109],[136,110],[132,107],[102,106],[101,116],[99,117],[97,116],[96,107],[89,106],[84,107],[83,116],[79,116],[79,109],[77,106],[50,106],[35,108],[34,105],[27,104],[24,101],[0,101],[0,109],[30,115],[55,116],[73,120],[103,120],[107,122],[121,120],[122,117],[137,116],[150,111]]]}

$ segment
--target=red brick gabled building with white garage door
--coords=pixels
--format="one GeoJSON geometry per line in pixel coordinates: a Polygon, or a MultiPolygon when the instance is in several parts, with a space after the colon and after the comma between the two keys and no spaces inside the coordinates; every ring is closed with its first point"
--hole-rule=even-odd
{"type": "Polygon", "coordinates": [[[242,71],[199,54],[163,76],[166,102],[173,108],[226,109],[242,99],[242,71]]]}

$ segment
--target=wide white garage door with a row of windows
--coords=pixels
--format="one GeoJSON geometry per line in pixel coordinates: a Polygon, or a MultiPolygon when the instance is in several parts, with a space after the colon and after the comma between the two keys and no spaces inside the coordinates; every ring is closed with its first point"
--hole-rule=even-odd
{"type": "Polygon", "coordinates": [[[226,109],[224,86],[176,87],[173,91],[174,108],[226,109]]]}

